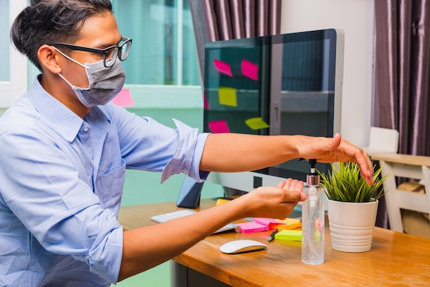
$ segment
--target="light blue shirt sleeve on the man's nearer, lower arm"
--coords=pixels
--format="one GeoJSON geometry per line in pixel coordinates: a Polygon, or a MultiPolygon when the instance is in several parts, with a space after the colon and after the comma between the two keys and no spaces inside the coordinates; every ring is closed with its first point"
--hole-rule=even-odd
{"type": "Polygon", "coordinates": [[[0,208],[9,208],[47,251],[72,255],[116,282],[122,227],[80,180],[71,159],[49,138],[28,130],[0,135],[0,146],[0,208]]]}

